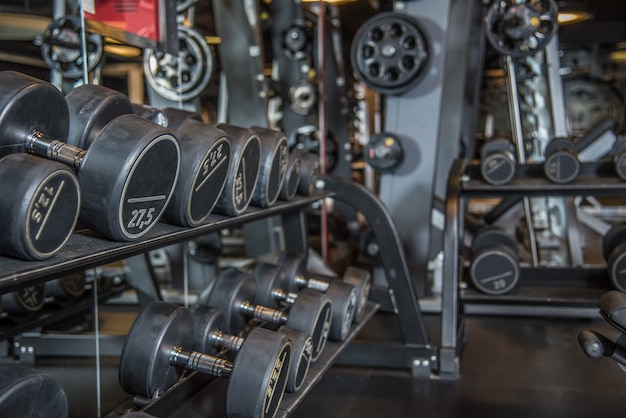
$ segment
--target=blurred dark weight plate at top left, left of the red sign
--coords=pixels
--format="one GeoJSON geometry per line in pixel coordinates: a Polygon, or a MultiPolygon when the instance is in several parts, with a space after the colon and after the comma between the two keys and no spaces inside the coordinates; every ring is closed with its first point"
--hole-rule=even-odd
{"type": "MultiPolygon", "coordinates": [[[[81,32],[80,18],[68,15],[54,20],[36,40],[41,42],[41,55],[46,65],[65,78],[76,79],[84,75],[81,32]]],[[[86,33],[85,38],[87,71],[93,71],[102,62],[104,41],[95,33],[86,33]]]]}

